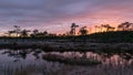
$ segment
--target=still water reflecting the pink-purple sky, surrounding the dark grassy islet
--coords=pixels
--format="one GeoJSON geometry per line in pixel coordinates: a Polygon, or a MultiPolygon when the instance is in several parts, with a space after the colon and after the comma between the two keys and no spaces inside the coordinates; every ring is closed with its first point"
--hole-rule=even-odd
{"type": "Polygon", "coordinates": [[[132,53],[0,50],[0,75],[133,75],[132,53]],[[70,65],[43,60],[44,54],[94,58],[98,65],[70,65]]]}

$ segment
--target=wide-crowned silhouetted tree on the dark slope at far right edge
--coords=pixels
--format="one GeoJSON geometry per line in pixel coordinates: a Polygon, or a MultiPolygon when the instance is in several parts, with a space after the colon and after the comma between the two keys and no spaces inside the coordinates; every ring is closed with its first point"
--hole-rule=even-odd
{"type": "Polygon", "coordinates": [[[133,23],[124,22],[117,25],[117,30],[120,31],[130,31],[133,30],[133,23]]]}

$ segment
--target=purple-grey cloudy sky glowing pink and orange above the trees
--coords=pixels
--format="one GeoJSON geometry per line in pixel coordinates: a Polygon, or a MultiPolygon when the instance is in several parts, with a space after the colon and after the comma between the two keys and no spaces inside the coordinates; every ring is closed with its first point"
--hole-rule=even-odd
{"type": "Polygon", "coordinates": [[[0,32],[22,29],[64,33],[81,26],[133,22],[133,0],[0,0],[0,32]]]}

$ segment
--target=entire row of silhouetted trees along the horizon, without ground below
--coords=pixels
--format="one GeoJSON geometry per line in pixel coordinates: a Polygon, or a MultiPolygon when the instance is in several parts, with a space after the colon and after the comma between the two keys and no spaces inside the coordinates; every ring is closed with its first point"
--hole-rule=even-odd
{"type": "MultiPolygon", "coordinates": [[[[6,33],[7,36],[12,38],[12,36],[17,36],[17,38],[43,38],[43,36],[73,36],[73,35],[88,35],[90,33],[90,31],[88,30],[88,26],[81,26],[72,23],[71,24],[71,30],[68,33],[64,34],[55,34],[55,33],[49,33],[48,31],[39,31],[37,29],[34,29],[33,31],[31,30],[27,30],[27,29],[21,29],[18,25],[13,25],[13,30],[8,31],[6,33]],[[76,31],[76,29],[79,28],[79,31],[76,31]]],[[[101,25],[95,25],[94,26],[95,32],[112,32],[112,31],[133,31],[133,23],[131,22],[123,22],[121,24],[119,24],[116,28],[111,26],[110,24],[101,24],[101,25]],[[99,30],[99,31],[98,31],[99,30]]]]}

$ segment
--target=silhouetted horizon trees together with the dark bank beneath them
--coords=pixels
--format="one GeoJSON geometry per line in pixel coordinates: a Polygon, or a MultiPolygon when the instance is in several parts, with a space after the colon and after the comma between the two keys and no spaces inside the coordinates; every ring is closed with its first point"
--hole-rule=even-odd
{"type": "Polygon", "coordinates": [[[33,31],[21,29],[19,25],[14,25],[14,30],[9,30],[1,39],[45,39],[45,40],[91,40],[96,42],[133,42],[133,23],[123,22],[117,24],[116,28],[110,24],[95,25],[93,33],[88,30],[88,26],[80,26],[72,23],[70,31],[63,34],[49,33],[48,31],[33,31]],[[79,29],[79,31],[76,30],[79,29]]]}

